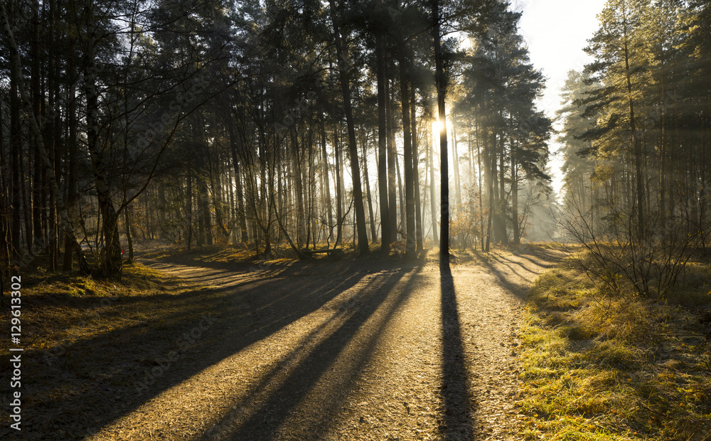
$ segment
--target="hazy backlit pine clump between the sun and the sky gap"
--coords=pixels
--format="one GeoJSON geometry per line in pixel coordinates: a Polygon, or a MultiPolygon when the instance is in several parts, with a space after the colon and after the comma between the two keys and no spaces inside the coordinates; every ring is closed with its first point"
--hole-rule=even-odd
{"type": "MultiPolygon", "coordinates": [[[[530,208],[518,203],[523,181],[538,192],[550,191],[545,166],[552,123],[535,107],[544,82],[516,32],[519,18],[520,14],[506,9],[497,11],[486,38],[481,38],[466,57],[464,87],[455,105],[461,117],[453,124],[460,125],[458,132],[466,134],[467,139],[469,188],[477,188],[466,195],[466,203],[481,211],[484,193],[488,200],[486,226],[479,225],[478,229],[482,250],[488,250],[492,240],[507,245],[520,243],[525,233],[525,223],[520,220],[528,216],[530,208]],[[473,144],[478,176],[471,161],[473,144]]],[[[456,145],[456,139],[454,142],[456,145]]],[[[483,224],[483,213],[479,221],[483,224]]]]}

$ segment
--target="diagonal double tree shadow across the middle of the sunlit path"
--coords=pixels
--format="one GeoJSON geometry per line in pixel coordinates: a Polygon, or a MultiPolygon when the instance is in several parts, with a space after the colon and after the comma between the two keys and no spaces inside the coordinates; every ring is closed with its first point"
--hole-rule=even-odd
{"type": "Polygon", "coordinates": [[[373,286],[363,289],[351,307],[313,329],[286,361],[251,386],[231,404],[230,412],[197,440],[273,440],[285,429],[295,439],[315,439],[316,434],[328,430],[355,388],[388,322],[410,296],[417,272],[397,289],[394,288],[405,276],[405,270],[371,282],[373,286]],[[379,309],[382,310],[376,314],[379,309]],[[368,322],[369,330],[358,338],[368,322]],[[357,346],[351,344],[356,338],[357,346]],[[350,352],[344,354],[349,344],[350,352]],[[324,389],[328,393],[324,394],[324,389]],[[314,402],[315,398],[318,402],[314,402]],[[288,427],[289,418],[300,406],[308,406],[307,415],[299,414],[298,428],[288,427]]]}

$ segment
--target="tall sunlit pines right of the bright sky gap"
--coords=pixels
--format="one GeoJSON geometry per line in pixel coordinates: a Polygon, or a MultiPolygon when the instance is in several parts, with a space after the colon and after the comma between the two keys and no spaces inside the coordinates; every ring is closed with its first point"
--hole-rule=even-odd
{"type": "Polygon", "coordinates": [[[605,258],[643,294],[663,296],[707,246],[711,75],[700,57],[710,11],[609,1],[587,48],[594,62],[570,73],[563,95],[569,232],[618,244],[619,259],[605,258]]]}

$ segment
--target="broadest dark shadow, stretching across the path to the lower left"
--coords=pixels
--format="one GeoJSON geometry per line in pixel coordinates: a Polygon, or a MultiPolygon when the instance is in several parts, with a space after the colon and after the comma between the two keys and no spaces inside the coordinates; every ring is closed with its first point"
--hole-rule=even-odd
{"type": "MultiPolygon", "coordinates": [[[[296,265],[290,272],[294,277],[299,276],[296,265]]],[[[28,375],[56,378],[56,388],[51,390],[38,390],[31,382],[26,386],[25,439],[84,439],[164,390],[319,309],[365,276],[360,266],[343,263],[316,265],[314,269],[314,265],[307,265],[303,269],[309,276],[299,277],[298,285],[293,277],[251,277],[247,282],[237,278],[237,288],[116,299],[116,304],[127,302],[127,306],[153,312],[151,319],[75,341],[59,355],[50,349],[23,355],[33,360],[28,375]],[[169,312],[164,310],[164,302],[173,304],[169,312]],[[176,337],[196,329],[195,319],[186,317],[210,313],[217,322],[193,339],[179,363],[138,388],[145,383],[147,372],[156,371],[156,359],[178,349],[176,337]],[[65,393],[67,389],[73,392],[65,393]]],[[[358,318],[351,321],[358,323],[358,318]]]]}

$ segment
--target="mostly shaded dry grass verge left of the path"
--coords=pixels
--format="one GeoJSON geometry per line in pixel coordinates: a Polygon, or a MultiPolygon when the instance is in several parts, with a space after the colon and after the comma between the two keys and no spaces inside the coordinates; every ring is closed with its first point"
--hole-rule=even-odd
{"type": "MultiPolygon", "coordinates": [[[[22,282],[23,422],[34,433],[52,432],[45,426],[50,420],[73,421],[105,411],[111,400],[127,400],[151,354],[161,354],[176,333],[199,321],[197,297],[214,295],[140,264],[124,265],[120,282],[48,272],[25,274],[22,282]]],[[[8,349],[7,339],[0,340],[3,358],[8,349]]],[[[6,368],[3,378],[9,378],[6,368]]],[[[0,426],[1,438],[7,414],[0,426]]]]}

